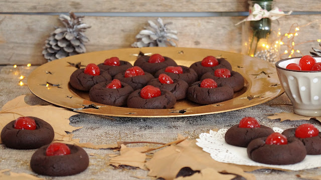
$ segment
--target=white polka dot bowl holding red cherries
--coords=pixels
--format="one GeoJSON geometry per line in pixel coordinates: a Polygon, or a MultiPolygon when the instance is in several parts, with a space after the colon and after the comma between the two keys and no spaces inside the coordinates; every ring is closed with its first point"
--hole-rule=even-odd
{"type": "MultiPolygon", "coordinates": [[[[321,56],[313,56],[321,62],[321,56]]],[[[301,57],[279,60],[275,63],[277,75],[293,112],[304,116],[321,116],[321,71],[302,71],[285,68],[289,63],[299,63],[301,57]]]]}

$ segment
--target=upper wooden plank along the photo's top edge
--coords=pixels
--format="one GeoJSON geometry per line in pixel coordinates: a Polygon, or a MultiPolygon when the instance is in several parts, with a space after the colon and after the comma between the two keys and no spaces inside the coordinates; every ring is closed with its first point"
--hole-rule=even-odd
{"type": "MultiPolygon", "coordinates": [[[[248,0],[0,0],[0,12],[232,12],[248,0]]],[[[278,0],[285,11],[320,11],[319,0],[278,0]]]]}

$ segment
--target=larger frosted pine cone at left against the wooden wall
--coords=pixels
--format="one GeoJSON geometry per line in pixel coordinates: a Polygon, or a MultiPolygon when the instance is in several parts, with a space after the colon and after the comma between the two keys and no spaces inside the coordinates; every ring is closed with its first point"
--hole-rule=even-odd
{"type": "Polygon", "coordinates": [[[86,52],[84,42],[89,39],[84,31],[91,26],[82,23],[83,17],[76,16],[73,12],[69,12],[69,16],[59,15],[65,27],[55,27],[56,30],[47,38],[42,54],[48,61],[86,52]]]}

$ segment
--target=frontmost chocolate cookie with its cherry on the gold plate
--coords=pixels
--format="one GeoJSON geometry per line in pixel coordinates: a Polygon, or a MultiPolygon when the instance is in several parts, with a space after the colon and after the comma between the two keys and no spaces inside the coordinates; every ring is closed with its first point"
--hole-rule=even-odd
{"type": "Polygon", "coordinates": [[[133,91],[127,98],[130,108],[165,109],[172,108],[176,103],[175,95],[166,89],[146,85],[133,91]]]}

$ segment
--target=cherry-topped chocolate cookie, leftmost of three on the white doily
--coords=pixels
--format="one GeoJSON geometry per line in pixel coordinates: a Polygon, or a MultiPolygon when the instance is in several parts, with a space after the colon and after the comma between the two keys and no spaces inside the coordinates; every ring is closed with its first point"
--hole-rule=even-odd
{"type": "Polygon", "coordinates": [[[226,131],[224,138],[228,144],[247,147],[253,139],[266,137],[273,132],[272,128],[259,124],[254,117],[244,117],[239,124],[226,131]]]}

